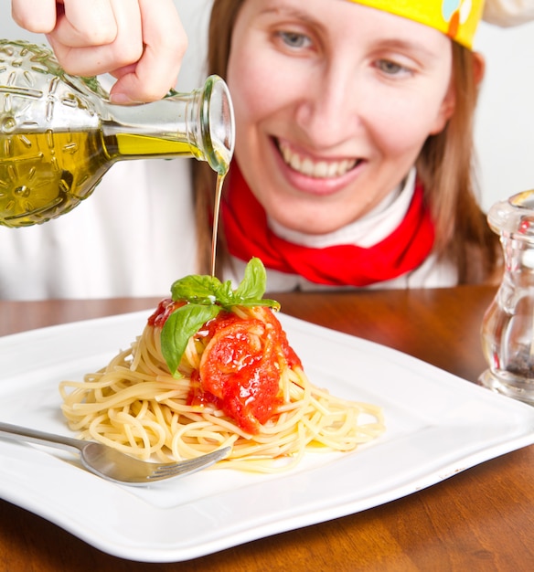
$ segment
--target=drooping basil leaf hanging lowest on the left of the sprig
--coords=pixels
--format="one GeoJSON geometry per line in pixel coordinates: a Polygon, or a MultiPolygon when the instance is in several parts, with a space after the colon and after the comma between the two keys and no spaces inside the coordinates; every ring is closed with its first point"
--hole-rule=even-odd
{"type": "Polygon", "coordinates": [[[167,318],[161,332],[161,352],[173,376],[178,376],[176,370],[189,338],[219,312],[220,306],[190,303],[181,306],[167,318]]]}

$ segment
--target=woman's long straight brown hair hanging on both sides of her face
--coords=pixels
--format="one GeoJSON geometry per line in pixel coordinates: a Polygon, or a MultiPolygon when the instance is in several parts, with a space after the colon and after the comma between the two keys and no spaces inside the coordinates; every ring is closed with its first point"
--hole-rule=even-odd
{"type": "MultiPolygon", "coordinates": [[[[208,30],[208,73],[227,76],[231,34],[245,0],[214,0],[208,30]]],[[[431,135],[416,162],[425,198],[435,225],[435,254],[454,262],[460,283],[487,281],[500,260],[498,237],[486,223],[475,191],[473,129],[478,84],[475,56],[453,42],[455,106],[443,132],[431,135]]],[[[207,164],[194,162],[198,228],[198,260],[202,272],[209,268],[216,175],[207,164]]],[[[229,255],[219,227],[218,265],[229,255]]]]}

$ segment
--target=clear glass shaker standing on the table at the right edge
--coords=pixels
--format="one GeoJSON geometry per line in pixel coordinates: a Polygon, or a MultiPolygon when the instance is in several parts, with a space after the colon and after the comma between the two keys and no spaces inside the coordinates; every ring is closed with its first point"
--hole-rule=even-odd
{"type": "Polygon", "coordinates": [[[505,270],[482,323],[489,368],[479,382],[534,404],[534,190],[498,202],[487,220],[500,235],[505,270]]]}

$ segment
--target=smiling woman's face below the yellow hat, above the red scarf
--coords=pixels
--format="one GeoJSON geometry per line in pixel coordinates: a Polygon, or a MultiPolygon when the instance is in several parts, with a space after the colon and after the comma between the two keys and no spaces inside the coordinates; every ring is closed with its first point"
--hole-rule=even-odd
{"type": "Polygon", "coordinates": [[[323,234],[407,175],[454,110],[451,41],[344,0],[245,0],[228,84],[236,157],[270,217],[323,234]]]}

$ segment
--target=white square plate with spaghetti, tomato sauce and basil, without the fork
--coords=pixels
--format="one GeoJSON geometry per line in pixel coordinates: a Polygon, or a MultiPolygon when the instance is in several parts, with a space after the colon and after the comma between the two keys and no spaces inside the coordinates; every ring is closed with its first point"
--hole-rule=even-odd
{"type": "Polygon", "coordinates": [[[278,312],[263,290],[255,261],[235,291],[188,277],[145,312],[0,338],[5,422],[142,458],[232,448],[206,471],[133,488],[0,440],[0,496],[113,556],[175,562],[388,503],[534,442],[533,408],[278,312]]]}

